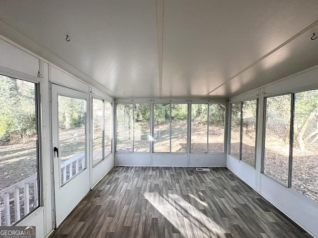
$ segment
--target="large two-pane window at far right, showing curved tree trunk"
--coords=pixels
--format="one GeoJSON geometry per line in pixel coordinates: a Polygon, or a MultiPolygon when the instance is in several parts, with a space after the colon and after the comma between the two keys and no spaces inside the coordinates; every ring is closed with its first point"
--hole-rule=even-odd
{"type": "Polygon", "coordinates": [[[265,112],[263,173],[318,202],[318,90],[268,97],[265,112]]]}

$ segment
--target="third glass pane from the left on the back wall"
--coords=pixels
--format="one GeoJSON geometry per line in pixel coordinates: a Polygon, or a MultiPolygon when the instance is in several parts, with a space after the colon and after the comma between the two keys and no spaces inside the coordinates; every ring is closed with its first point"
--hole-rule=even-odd
{"type": "Polygon", "coordinates": [[[170,152],[170,104],[154,104],[154,152],[170,152]]]}

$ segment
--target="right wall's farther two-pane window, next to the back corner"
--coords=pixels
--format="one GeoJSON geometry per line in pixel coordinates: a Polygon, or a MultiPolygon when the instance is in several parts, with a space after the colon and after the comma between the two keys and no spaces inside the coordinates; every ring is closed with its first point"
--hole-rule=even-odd
{"type": "Polygon", "coordinates": [[[257,100],[231,104],[230,154],[255,167],[257,100]]]}

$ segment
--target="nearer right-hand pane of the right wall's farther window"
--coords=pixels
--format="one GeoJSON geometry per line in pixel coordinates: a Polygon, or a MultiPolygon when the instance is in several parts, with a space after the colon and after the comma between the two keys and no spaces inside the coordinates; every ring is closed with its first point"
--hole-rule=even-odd
{"type": "Polygon", "coordinates": [[[255,167],[257,100],[245,101],[242,106],[241,160],[255,167]]]}

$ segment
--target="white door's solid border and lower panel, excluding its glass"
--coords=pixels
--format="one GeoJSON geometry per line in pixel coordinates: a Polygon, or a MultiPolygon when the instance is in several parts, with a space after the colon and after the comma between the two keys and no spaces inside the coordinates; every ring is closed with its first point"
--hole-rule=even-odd
{"type": "Polygon", "coordinates": [[[90,94],[82,92],[76,89],[65,87],[59,84],[50,83],[50,119],[51,119],[51,163],[52,163],[52,178],[53,178],[53,217],[54,217],[54,229],[59,227],[65,218],[71,213],[71,211],[78,205],[80,200],[90,190],[91,180],[91,160],[90,158],[90,94]],[[57,157],[57,153],[54,152],[54,147],[59,148],[59,127],[58,127],[58,95],[68,96],[73,98],[84,99],[85,105],[85,169],[79,172],[74,178],[61,184],[61,172],[60,172],[60,158],[57,157]],[[79,186],[80,184],[80,186],[79,186]],[[67,193],[63,199],[59,197],[61,193],[67,193]],[[75,195],[74,199],[70,197],[75,195]],[[61,204],[61,203],[65,204],[61,204]],[[62,206],[62,208],[61,208],[62,206]]]}

